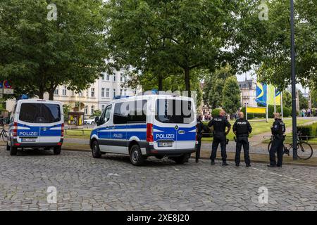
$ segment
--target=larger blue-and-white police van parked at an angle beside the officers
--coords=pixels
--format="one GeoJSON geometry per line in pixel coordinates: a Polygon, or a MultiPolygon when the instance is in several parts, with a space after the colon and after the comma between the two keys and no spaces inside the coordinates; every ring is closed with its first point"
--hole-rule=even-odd
{"type": "Polygon", "coordinates": [[[92,156],[130,155],[132,165],[149,156],[182,164],[196,150],[196,109],[192,98],[125,96],[106,105],[90,136],[92,156]]]}

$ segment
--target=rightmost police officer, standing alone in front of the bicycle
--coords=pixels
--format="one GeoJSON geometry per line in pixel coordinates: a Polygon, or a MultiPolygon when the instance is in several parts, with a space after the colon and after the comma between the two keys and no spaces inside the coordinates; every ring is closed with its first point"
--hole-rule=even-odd
{"type": "Polygon", "coordinates": [[[283,142],[285,140],[285,124],[280,119],[280,113],[274,114],[275,121],[271,127],[273,142],[270,149],[270,165],[268,167],[282,167],[283,142]],[[278,163],[276,163],[275,153],[278,153],[278,163]]]}

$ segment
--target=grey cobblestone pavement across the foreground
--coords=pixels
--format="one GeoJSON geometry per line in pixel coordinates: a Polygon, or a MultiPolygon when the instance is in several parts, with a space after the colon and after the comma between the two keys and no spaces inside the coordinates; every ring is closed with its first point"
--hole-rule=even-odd
{"type": "Polygon", "coordinates": [[[316,167],[156,159],[134,167],[116,155],[0,150],[0,210],[317,210],[316,184],[316,167]],[[57,204],[47,203],[49,186],[57,204]],[[267,204],[259,203],[260,187],[268,188],[267,204]]]}

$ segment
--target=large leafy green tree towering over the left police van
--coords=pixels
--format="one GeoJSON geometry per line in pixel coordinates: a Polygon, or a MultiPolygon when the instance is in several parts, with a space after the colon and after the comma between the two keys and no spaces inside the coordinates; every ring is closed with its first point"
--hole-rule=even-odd
{"type": "Polygon", "coordinates": [[[47,91],[53,99],[59,84],[80,91],[106,69],[103,1],[56,0],[48,9],[49,4],[0,2],[0,78],[11,81],[16,95],[43,98],[47,91]]]}

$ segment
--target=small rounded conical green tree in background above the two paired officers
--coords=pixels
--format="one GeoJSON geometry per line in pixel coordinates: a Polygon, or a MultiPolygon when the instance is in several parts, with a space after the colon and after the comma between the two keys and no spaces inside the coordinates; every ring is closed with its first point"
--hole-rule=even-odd
{"type": "Polygon", "coordinates": [[[223,109],[231,115],[240,108],[240,89],[235,76],[225,80],[222,105],[223,109]]]}

